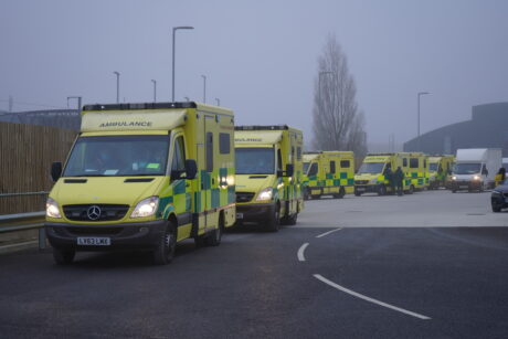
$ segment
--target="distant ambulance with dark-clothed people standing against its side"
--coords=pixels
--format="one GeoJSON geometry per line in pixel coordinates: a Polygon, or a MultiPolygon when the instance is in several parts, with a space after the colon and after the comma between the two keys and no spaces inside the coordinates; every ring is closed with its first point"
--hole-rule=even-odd
{"type": "Polygon", "coordinates": [[[401,167],[404,173],[403,190],[411,194],[428,187],[428,157],[421,152],[371,153],[354,176],[354,195],[394,193],[385,174],[401,167]]]}

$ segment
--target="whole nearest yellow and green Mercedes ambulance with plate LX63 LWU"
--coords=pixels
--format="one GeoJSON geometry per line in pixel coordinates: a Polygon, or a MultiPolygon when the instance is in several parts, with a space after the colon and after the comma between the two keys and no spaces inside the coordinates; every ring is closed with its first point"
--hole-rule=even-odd
{"type": "Polygon", "coordinates": [[[88,105],[46,202],[57,264],[77,251],[216,246],[235,222],[233,112],[198,103],[88,105]]]}

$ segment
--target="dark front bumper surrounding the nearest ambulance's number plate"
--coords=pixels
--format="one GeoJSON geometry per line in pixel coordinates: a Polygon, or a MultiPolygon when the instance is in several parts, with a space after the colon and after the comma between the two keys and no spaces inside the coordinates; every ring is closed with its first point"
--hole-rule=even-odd
{"type": "Polygon", "coordinates": [[[53,247],[74,251],[150,251],[158,246],[168,225],[167,220],[107,225],[82,225],[46,222],[47,240],[53,247]],[[108,246],[77,245],[80,236],[109,237],[108,246]]]}

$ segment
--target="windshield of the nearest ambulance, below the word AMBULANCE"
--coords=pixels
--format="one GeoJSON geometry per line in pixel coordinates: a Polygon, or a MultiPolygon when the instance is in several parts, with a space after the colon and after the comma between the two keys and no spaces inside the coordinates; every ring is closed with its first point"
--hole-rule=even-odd
{"type": "Polygon", "coordinates": [[[168,147],[168,135],[81,137],[63,177],[165,176],[168,147]]]}

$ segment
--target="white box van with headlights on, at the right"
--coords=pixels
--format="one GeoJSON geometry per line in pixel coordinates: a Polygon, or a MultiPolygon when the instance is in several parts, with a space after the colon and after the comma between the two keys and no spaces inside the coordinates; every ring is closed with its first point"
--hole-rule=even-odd
{"type": "Polygon", "coordinates": [[[483,191],[494,188],[494,178],[502,165],[501,157],[499,148],[457,149],[452,176],[452,192],[483,191]]]}

